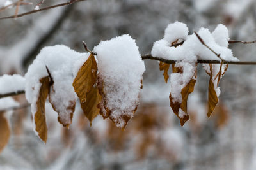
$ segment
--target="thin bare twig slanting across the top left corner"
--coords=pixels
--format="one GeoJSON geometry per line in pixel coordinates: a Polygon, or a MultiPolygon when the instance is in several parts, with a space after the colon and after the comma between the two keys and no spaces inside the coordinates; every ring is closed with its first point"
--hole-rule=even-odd
{"type": "Polygon", "coordinates": [[[19,15],[11,15],[9,17],[1,17],[0,20],[10,19],[10,18],[19,18],[19,17],[23,17],[25,15],[36,13],[36,12],[39,12],[39,11],[50,10],[52,8],[57,8],[57,7],[60,7],[60,6],[66,6],[68,4],[77,3],[77,2],[80,2],[80,1],[86,1],[86,0],[71,0],[71,1],[68,1],[67,3],[56,4],[56,5],[53,5],[53,6],[48,6],[48,7],[45,7],[45,8],[41,8],[39,10],[32,10],[32,11],[29,11],[29,12],[26,12],[26,13],[20,13],[19,15]]]}

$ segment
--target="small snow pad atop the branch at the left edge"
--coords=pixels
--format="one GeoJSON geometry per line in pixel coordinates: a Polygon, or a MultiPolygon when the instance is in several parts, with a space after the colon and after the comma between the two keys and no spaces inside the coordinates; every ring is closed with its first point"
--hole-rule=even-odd
{"type": "Polygon", "coordinates": [[[0,94],[18,92],[25,89],[25,78],[18,74],[4,74],[0,77],[0,94]]]}

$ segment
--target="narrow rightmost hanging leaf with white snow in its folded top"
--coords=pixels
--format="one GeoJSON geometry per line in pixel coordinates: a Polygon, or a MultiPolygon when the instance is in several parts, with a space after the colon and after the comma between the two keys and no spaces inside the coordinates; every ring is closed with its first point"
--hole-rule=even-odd
{"type": "Polygon", "coordinates": [[[228,64],[209,64],[209,69],[205,69],[205,72],[209,74],[209,88],[208,88],[208,113],[207,116],[211,117],[212,112],[215,110],[216,105],[218,104],[218,96],[220,95],[220,90],[218,85],[220,83],[221,77],[225,74],[228,69],[228,64]]]}

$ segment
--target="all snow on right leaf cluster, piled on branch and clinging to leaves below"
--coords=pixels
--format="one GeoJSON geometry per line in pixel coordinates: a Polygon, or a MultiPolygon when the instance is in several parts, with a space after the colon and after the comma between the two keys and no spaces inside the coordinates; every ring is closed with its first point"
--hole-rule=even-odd
{"type": "MultiPolygon", "coordinates": [[[[209,29],[200,28],[198,34],[206,45],[210,46],[216,53],[220,53],[221,59],[228,61],[238,60],[233,56],[232,50],[227,48],[229,36],[225,25],[219,24],[212,34],[209,29]]],[[[180,22],[168,25],[165,29],[164,38],[154,43],[152,55],[163,59],[177,60],[175,67],[182,69],[183,73],[172,73],[170,82],[172,98],[179,103],[182,100],[180,91],[195,74],[196,60],[220,60],[211,50],[202,45],[195,33],[188,36],[188,27],[180,22]],[[177,47],[170,46],[172,42],[180,41],[180,39],[184,41],[183,45],[177,47]]],[[[209,71],[207,66],[204,67],[209,71]]],[[[220,64],[214,64],[212,69],[214,74],[218,73],[218,67],[220,67],[220,64]]],[[[218,91],[218,88],[216,90],[218,91]]],[[[182,115],[184,113],[180,112],[180,116],[182,115]]]]}

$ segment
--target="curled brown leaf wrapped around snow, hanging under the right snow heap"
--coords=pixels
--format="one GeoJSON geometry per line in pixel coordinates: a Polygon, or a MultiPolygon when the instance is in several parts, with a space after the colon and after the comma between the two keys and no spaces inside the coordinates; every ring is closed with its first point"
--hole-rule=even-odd
{"type": "MultiPolygon", "coordinates": [[[[172,64],[172,70],[173,73],[183,73],[182,69],[180,67],[175,67],[175,64],[172,64]]],[[[193,92],[194,87],[196,83],[196,70],[194,73],[194,76],[190,79],[189,83],[185,85],[180,91],[180,94],[182,96],[182,101],[181,103],[174,101],[172,97],[172,93],[170,93],[170,106],[180,119],[180,125],[183,126],[185,122],[189,120],[189,115],[187,111],[187,101],[188,101],[188,96],[193,92]]]]}

